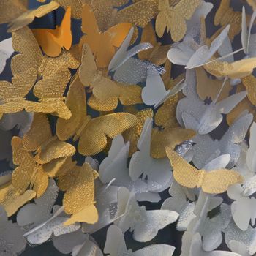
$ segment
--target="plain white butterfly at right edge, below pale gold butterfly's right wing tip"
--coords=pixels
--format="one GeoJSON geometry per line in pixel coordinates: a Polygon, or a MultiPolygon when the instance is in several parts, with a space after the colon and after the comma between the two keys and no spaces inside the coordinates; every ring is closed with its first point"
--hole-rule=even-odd
{"type": "Polygon", "coordinates": [[[255,225],[256,198],[244,197],[243,188],[240,184],[234,184],[227,189],[227,195],[235,200],[231,204],[232,217],[236,225],[243,231],[249,227],[249,222],[255,225]]]}

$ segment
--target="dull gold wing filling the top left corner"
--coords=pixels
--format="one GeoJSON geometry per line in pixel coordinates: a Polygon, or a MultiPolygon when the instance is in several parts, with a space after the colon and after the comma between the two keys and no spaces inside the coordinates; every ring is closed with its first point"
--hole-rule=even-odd
{"type": "Polygon", "coordinates": [[[28,0],[1,0],[0,24],[13,20],[18,15],[28,10],[28,0]],[[5,10],[5,11],[3,11],[5,10]]]}

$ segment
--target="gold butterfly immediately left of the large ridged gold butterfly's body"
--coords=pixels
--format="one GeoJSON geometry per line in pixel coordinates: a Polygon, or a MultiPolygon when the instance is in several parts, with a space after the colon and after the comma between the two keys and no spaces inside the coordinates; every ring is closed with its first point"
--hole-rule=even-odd
{"type": "Polygon", "coordinates": [[[71,157],[75,154],[74,146],[52,136],[48,118],[42,113],[34,114],[31,128],[23,137],[23,146],[28,151],[36,151],[34,159],[41,165],[53,159],[71,157]]]}

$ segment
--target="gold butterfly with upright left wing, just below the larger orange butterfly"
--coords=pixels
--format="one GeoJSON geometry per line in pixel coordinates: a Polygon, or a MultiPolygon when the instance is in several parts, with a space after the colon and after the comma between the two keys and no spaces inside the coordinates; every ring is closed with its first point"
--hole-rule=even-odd
{"type": "MultiPolygon", "coordinates": [[[[97,105],[96,103],[100,105],[100,102],[108,102],[109,99],[115,99],[114,104],[112,104],[114,108],[118,105],[118,99],[124,103],[141,102],[140,86],[123,86],[102,75],[102,72],[97,69],[93,53],[87,44],[83,45],[81,62],[80,68],[78,69],[79,78],[84,86],[90,86],[92,89],[94,98],[90,101],[91,105],[97,105]],[[135,101],[131,100],[134,98],[132,94],[136,94],[135,101]]],[[[109,103],[107,103],[106,108],[109,110],[108,105],[109,103]]],[[[99,110],[99,108],[97,108],[97,110],[99,110]]]]}

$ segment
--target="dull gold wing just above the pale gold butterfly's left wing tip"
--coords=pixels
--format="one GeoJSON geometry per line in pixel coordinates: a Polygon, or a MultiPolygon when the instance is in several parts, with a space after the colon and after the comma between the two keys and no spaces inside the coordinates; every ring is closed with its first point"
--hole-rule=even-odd
{"type": "Polygon", "coordinates": [[[175,148],[185,140],[189,140],[196,135],[192,129],[181,127],[165,128],[163,130],[154,129],[151,135],[151,157],[166,157],[165,148],[175,148]]]}

